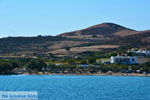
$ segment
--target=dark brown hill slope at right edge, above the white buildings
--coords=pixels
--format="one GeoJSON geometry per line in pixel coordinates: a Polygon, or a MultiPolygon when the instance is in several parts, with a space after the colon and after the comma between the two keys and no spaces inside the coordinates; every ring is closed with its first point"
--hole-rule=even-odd
{"type": "Polygon", "coordinates": [[[150,49],[150,31],[140,31],[133,35],[114,38],[106,41],[106,44],[117,44],[129,46],[131,48],[147,48],[150,49]]]}

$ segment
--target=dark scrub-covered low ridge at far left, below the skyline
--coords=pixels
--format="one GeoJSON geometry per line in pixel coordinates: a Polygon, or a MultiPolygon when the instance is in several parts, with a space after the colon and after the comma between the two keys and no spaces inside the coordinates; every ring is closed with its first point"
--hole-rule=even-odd
{"type": "MultiPolygon", "coordinates": [[[[3,53],[32,51],[33,48],[46,50],[54,41],[70,40],[61,36],[37,36],[37,37],[8,37],[0,39],[0,51],[3,53]],[[47,44],[48,43],[48,44],[47,44]],[[44,45],[43,45],[44,44],[44,45]],[[28,48],[28,49],[27,49],[28,48]]],[[[34,50],[36,51],[36,50],[34,50]]]]}

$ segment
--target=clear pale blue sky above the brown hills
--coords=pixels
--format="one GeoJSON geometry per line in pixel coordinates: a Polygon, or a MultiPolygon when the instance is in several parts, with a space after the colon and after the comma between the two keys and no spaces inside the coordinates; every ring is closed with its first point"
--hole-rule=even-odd
{"type": "Polygon", "coordinates": [[[58,35],[112,22],[150,29],[150,0],[0,0],[0,37],[58,35]]]}

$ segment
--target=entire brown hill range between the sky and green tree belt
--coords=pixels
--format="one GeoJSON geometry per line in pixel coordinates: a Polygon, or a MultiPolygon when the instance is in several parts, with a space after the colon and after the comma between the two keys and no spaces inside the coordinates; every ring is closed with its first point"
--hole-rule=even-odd
{"type": "Polygon", "coordinates": [[[136,31],[114,23],[102,23],[58,36],[8,37],[0,39],[1,55],[45,54],[66,55],[118,48],[150,49],[150,31],[136,31]]]}

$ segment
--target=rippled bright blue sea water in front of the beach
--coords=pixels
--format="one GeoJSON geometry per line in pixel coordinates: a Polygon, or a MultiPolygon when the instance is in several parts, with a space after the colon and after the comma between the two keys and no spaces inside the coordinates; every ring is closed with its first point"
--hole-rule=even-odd
{"type": "Polygon", "coordinates": [[[150,77],[0,76],[0,91],[38,91],[39,100],[150,100],[150,77]]]}

